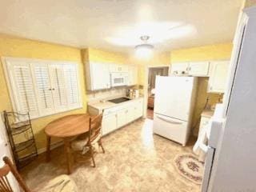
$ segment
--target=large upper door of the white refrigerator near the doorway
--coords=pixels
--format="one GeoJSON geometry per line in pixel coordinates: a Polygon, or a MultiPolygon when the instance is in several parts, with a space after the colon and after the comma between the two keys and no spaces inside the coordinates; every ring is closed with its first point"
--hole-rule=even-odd
{"type": "Polygon", "coordinates": [[[154,112],[188,121],[194,78],[157,76],[154,112]]]}

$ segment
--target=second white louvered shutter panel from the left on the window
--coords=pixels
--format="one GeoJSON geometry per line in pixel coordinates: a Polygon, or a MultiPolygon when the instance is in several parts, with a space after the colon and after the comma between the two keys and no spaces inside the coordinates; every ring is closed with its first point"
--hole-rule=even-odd
{"type": "Polygon", "coordinates": [[[48,66],[44,63],[31,63],[31,68],[34,71],[34,83],[40,115],[52,114],[54,111],[54,102],[51,93],[48,66]]]}

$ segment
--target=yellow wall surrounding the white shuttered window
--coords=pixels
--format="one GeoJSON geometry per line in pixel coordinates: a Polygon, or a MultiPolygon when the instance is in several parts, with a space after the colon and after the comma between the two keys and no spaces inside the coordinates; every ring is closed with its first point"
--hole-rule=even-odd
{"type": "MultiPolygon", "coordinates": [[[[86,87],[84,80],[84,67],[81,61],[81,51],[69,46],[59,46],[55,44],[14,38],[5,34],[0,34],[0,57],[18,57],[18,58],[41,58],[49,60],[61,60],[77,62],[80,72],[80,85],[83,108],[81,110],[72,110],[70,112],[56,114],[45,118],[38,118],[32,121],[34,134],[38,149],[46,146],[46,137],[43,128],[54,118],[59,118],[66,114],[79,113],[86,111],[86,87]]],[[[10,97],[7,90],[6,79],[0,63],[0,112],[2,110],[12,110],[10,97]]]]}

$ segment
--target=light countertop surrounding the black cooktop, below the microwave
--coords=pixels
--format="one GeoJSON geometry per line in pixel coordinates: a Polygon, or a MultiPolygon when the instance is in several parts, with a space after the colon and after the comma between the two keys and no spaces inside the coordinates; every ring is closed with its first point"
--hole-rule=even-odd
{"type": "MultiPolygon", "coordinates": [[[[128,98],[128,97],[116,97],[116,98],[128,98]]],[[[105,110],[107,108],[111,108],[111,107],[114,107],[114,106],[121,106],[123,104],[127,104],[131,101],[134,101],[134,100],[138,100],[140,98],[143,98],[142,96],[138,97],[138,98],[132,98],[130,101],[127,101],[127,102],[120,102],[120,103],[114,103],[114,102],[108,102],[107,100],[110,100],[110,99],[113,99],[113,98],[107,98],[107,99],[103,99],[104,102],[89,102],[88,103],[88,106],[90,107],[93,107],[94,109],[97,109],[97,110],[105,110]]]]}

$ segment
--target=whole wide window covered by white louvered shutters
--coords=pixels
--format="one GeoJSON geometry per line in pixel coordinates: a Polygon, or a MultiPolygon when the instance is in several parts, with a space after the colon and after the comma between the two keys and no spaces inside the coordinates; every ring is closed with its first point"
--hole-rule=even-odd
{"type": "Polygon", "coordinates": [[[23,58],[4,58],[13,108],[39,118],[82,107],[78,65],[23,58]]]}

